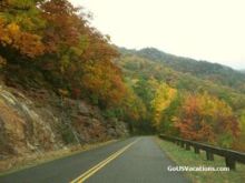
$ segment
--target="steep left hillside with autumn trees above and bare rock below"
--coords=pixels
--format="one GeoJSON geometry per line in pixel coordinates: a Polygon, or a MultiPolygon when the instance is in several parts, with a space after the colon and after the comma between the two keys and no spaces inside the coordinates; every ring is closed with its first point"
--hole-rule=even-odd
{"type": "Polygon", "coordinates": [[[0,171],[128,135],[135,98],[87,14],[67,0],[3,0],[0,11],[0,171]]]}

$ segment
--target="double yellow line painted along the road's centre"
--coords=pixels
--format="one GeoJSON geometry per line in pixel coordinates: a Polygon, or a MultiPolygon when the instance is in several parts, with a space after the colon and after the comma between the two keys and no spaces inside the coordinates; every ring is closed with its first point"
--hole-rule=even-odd
{"type": "Polygon", "coordinates": [[[105,165],[107,165],[109,162],[115,160],[117,156],[119,156],[121,153],[124,153],[127,149],[129,149],[131,145],[134,145],[138,140],[135,140],[134,142],[129,143],[128,145],[124,146],[122,149],[118,150],[116,153],[111,154],[109,157],[106,160],[101,161],[94,167],[89,169],[85,173],[82,173],[80,176],[71,181],[70,183],[84,183],[87,179],[89,179],[91,175],[94,175],[96,172],[98,172],[100,169],[102,169],[105,165]]]}

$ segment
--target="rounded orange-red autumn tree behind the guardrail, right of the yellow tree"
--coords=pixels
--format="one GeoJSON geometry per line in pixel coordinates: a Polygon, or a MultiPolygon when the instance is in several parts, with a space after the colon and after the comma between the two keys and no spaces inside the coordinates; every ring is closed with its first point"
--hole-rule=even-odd
{"type": "Polygon", "coordinates": [[[175,122],[183,138],[226,148],[232,145],[238,133],[232,108],[207,93],[187,95],[175,122]]]}

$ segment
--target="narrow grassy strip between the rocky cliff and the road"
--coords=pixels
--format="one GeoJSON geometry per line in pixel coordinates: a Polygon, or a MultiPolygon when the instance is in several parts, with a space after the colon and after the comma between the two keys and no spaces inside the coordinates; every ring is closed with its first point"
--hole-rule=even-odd
{"type": "MultiPolygon", "coordinates": [[[[122,139],[120,139],[122,140],[122,139]]],[[[99,146],[104,146],[120,140],[110,140],[106,142],[85,144],[85,145],[72,145],[57,151],[49,151],[45,153],[27,154],[26,156],[18,156],[0,161],[0,176],[18,172],[24,169],[29,169],[39,164],[48,163],[58,159],[71,156],[85,151],[89,151],[99,146]]]]}

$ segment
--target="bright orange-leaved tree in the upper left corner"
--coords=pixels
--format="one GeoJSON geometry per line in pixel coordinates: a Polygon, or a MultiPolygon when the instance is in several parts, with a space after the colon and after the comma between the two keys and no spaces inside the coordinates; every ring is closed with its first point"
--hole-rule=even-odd
{"type": "MultiPolygon", "coordinates": [[[[16,55],[36,58],[45,53],[39,29],[43,27],[39,1],[2,0],[0,2],[0,55],[7,62],[16,55]]],[[[29,59],[30,60],[30,59],[29,59]]]]}

